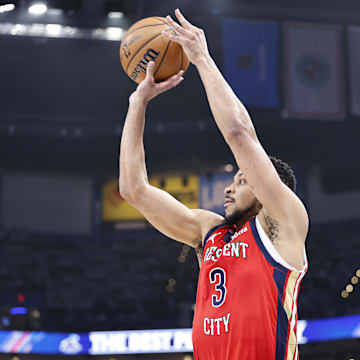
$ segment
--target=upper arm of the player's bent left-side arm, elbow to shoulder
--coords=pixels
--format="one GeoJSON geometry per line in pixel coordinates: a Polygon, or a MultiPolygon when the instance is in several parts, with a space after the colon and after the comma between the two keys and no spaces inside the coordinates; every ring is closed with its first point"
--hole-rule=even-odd
{"type": "Polygon", "coordinates": [[[194,248],[201,246],[211,227],[223,221],[222,216],[211,211],[189,209],[166,191],[149,184],[138,189],[136,195],[124,198],[161,233],[194,248]]]}

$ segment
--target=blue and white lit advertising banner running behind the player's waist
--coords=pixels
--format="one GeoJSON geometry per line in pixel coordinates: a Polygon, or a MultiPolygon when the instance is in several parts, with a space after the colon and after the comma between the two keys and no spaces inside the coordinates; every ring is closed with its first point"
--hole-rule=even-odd
{"type": "MultiPolygon", "coordinates": [[[[152,354],[192,352],[191,329],[61,334],[0,331],[0,352],[18,354],[152,354]]],[[[211,335],[210,335],[211,336],[211,335]]],[[[360,338],[360,315],[299,320],[299,344],[360,338]]]]}

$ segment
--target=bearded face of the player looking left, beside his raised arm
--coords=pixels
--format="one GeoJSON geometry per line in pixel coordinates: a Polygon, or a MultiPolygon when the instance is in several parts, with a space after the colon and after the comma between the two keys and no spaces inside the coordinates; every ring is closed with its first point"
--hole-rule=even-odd
{"type": "Polygon", "coordinates": [[[225,216],[230,224],[249,220],[261,209],[241,170],[236,173],[234,182],[225,188],[224,193],[225,216]]]}

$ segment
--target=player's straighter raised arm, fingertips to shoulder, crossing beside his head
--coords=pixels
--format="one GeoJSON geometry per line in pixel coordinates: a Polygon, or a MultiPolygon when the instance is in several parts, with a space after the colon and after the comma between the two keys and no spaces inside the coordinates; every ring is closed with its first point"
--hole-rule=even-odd
{"type": "Polygon", "coordinates": [[[189,23],[179,10],[175,14],[180,24],[167,17],[175,34],[164,35],[181,44],[197,67],[215,121],[246,183],[262,204],[264,213],[282,224],[283,228],[291,229],[292,239],[304,241],[308,217],[303,204],[281,181],[256,136],[247,110],[209,55],[204,31],[189,23]]]}

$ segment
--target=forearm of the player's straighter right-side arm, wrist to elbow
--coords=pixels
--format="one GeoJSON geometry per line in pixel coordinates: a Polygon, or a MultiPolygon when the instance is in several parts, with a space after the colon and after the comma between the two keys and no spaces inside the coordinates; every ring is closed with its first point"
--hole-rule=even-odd
{"type": "Polygon", "coordinates": [[[250,116],[214,60],[204,56],[197,64],[215,121],[226,141],[253,129],[250,116]]]}

